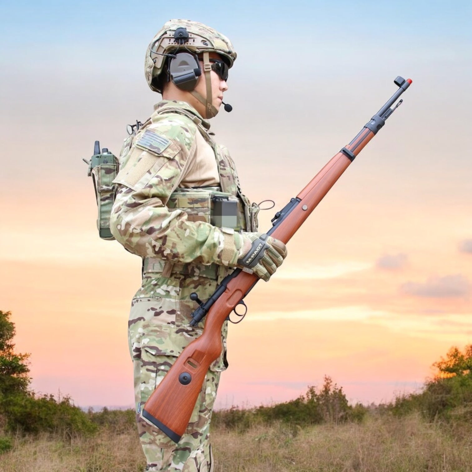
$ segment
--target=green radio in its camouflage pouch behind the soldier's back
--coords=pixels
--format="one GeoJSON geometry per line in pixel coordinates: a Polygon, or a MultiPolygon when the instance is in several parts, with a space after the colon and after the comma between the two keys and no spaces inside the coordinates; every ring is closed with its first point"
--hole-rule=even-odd
{"type": "Polygon", "coordinates": [[[116,186],[113,180],[118,174],[118,159],[107,148],[103,148],[100,152],[100,143],[95,141],[92,158],[90,161],[86,159],[84,161],[89,166],[87,175],[93,178],[98,207],[99,235],[102,239],[111,241],[115,239],[110,231],[110,216],[115,200],[116,186]]]}

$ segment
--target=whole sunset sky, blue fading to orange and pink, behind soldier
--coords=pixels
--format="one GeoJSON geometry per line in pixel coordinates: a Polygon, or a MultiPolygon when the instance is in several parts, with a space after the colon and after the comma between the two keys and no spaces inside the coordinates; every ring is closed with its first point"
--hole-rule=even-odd
{"type": "Polygon", "coordinates": [[[131,406],[127,317],[141,260],[95,227],[82,158],[118,153],[160,95],[143,75],[170,18],[238,57],[212,123],[260,228],[395,92],[404,102],[287,245],[230,326],[218,407],[287,401],[329,375],[352,401],[421,388],[472,343],[472,6],[467,1],[0,4],[0,310],[32,388],[131,406]]]}

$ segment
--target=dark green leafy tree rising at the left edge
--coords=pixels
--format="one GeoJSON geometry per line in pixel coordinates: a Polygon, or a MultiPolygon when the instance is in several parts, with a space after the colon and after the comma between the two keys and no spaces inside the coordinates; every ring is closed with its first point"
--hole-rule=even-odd
{"type": "Polygon", "coordinates": [[[15,336],[15,323],[11,312],[0,311],[0,400],[18,393],[27,394],[31,379],[28,377],[27,359],[30,354],[16,354],[11,342],[15,336]]]}

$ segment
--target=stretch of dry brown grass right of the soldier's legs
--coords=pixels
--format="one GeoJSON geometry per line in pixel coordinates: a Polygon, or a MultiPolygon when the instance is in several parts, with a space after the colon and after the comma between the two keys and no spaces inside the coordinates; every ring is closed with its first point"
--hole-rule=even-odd
{"type": "MultiPolygon", "coordinates": [[[[470,431],[470,428],[469,428],[470,431]]],[[[418,415],[364,424],[258,428],[213,437],[215,472],[472,471],[472,437],[453,438],[418,415]]]]}

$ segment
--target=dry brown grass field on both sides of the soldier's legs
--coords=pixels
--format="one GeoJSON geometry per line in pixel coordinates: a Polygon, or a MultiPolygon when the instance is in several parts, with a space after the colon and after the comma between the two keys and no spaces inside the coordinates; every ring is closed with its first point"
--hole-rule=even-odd
{"type": "MultiPolygon", "coordinates": [[[[215,472],[472,471],[472,425],[454,429],[419,415],[370,415],[363,424],[254,426],[245,433],[214,430],[215,472]]],[[[138,472],[144,460],[135,430],[68,443],[17,438],[0,456],[2,472],[138,472]]]]}

